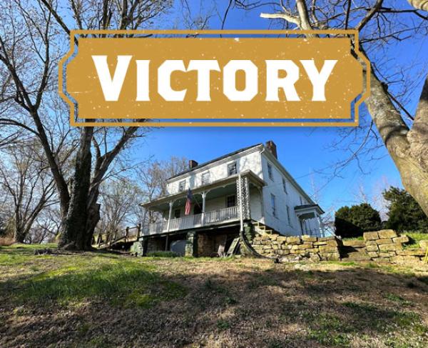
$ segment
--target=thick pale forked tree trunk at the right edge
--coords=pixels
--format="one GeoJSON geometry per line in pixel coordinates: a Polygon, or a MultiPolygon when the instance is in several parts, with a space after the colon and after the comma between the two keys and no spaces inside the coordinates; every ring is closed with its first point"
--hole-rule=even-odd
{"type": "MultiPolygon", "coordinates": [[[[404,188],[428,216],[427,133],[422,115],[427,116],[428,84],[425,83],[413,128],[404,123],[377,76],[370,76],[371,95],[366,104],[385,146],[397,166],[404,188]],[[418,122],[420,126],[418,126],[418,122]],[[414,134],[412,136],[412,134],[414,134]],[[414,140],[412,140],[414,139],[414,140]],[[417,146],[417,151],[412,148],[417,146]]],[[[427,121],[426,119],[424,120],[427,121]]]]}

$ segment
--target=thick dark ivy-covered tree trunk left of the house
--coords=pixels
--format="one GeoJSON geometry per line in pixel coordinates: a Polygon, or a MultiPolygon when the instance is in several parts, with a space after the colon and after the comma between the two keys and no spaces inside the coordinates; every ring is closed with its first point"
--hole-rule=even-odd
{"type": "Polygon", "coordinates": [[[67,249],[87,250],[91,245],[87,242],[88,197],[91,186],[91,140],[93,128],[83,129],[81,144],[76,156],[76,166],[71,189],[71,199],[63,227],[63,234],[58,244],[67,249]]]}

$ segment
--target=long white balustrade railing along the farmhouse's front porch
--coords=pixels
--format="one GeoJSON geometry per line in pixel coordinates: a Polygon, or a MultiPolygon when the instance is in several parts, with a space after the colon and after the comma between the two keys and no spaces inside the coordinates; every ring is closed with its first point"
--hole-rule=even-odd
{"type": "MultiPolygon", "coordinates": [[[[170,219],[169,232],[180,229],[191,229],[193,227],[202,227],[219,222],[228,222],[239,219],[238,207],[229,207],[205,212],[203,214],[189,215],[178,219],[170,219]]],[[[168,232],[168,220],[163,222],[154,222],[148,225],[148,229],[143,229],[143,235],[160,234],[168,232]]]]}

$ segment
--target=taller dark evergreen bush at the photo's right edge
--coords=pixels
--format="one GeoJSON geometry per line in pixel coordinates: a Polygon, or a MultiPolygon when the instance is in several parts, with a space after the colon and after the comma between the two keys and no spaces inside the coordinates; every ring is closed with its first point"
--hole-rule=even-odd
{"type": "Polygon", "coordinates": [[[402,232],[406,230],[428,230],[428,217],[419,204],[404,189],[389,187],[383,192],[389,202],[386,227],[402,232]]]}

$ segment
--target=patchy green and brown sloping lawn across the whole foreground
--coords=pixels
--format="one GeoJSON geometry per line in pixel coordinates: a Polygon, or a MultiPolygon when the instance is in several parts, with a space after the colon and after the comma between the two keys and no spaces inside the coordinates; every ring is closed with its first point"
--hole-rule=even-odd
{"type": "Polygon", "coordinates": [[[423,264],[39,248],[0,247],[0,347],[428,347],[423,264]]]}

